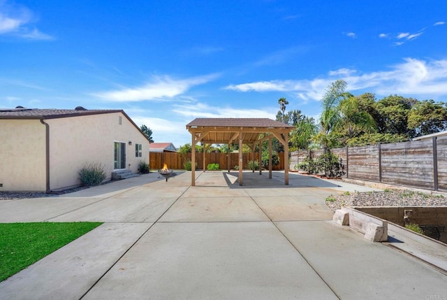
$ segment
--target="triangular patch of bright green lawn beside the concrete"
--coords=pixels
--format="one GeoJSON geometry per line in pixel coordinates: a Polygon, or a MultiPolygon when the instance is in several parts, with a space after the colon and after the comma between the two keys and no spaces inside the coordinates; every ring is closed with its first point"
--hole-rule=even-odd
{"type": "Polygon", "coordinates": [[[0,224],[0,281],[74,241],[102,223],[0,224]]]}

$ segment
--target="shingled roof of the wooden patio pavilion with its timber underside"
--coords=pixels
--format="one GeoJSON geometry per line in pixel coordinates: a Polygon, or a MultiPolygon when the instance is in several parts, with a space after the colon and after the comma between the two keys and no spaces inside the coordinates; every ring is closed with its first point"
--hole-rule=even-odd
{"type": "Polygon", "coordinates": [[[288,134],[293,126],[268,118],[196,118],[186,129],[202,143],[232,143],[242,134],[244,143],[253,143],[260,134],[288,134]]]}

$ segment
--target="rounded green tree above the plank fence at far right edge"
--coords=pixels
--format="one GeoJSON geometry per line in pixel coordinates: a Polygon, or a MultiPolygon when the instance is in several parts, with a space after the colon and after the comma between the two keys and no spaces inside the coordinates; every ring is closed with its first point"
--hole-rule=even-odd
{"type": "Polygon", "coordinates": [[[447,103],[433,100],[418,101],[410,110],[408,128],[416,136],[434,134],[447,129],[447,103]]]}

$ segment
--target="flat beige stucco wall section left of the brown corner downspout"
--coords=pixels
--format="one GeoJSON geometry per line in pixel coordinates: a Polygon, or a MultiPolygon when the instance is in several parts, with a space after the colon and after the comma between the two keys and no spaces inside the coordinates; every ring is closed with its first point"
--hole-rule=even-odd
{"type": "Polygon", "coordinates": [[[0,191],[45,192],[45,125],[0,120],[0,141],[0,191]]]}

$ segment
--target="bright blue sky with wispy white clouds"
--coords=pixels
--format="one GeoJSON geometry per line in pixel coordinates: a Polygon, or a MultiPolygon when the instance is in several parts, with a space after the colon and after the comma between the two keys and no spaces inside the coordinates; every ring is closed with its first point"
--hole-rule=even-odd
{"type": "Polygon", "coordinates": [[[447,2],[0,0],[0,108],[124,109],[158,142],[196,117],[318,117],[325,88],[447,102],[447,2]]]}

